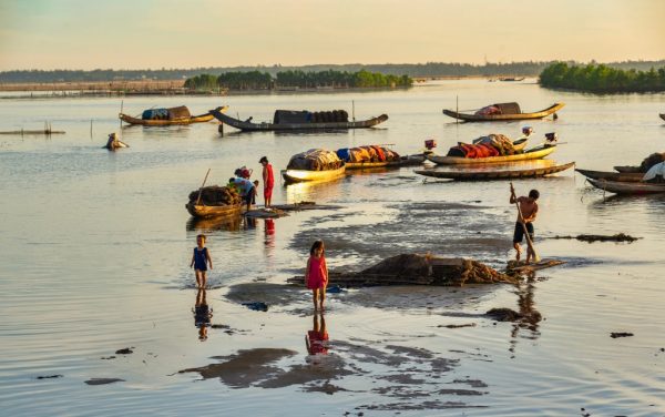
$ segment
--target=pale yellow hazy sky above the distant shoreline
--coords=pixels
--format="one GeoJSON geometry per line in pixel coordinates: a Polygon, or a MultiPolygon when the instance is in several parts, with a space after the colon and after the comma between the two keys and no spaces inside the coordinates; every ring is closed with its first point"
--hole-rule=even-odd
{"type": "Polygon", "coordinates": [[[665,59],[664,0],[0,0],[0,71],[665,59]]]}

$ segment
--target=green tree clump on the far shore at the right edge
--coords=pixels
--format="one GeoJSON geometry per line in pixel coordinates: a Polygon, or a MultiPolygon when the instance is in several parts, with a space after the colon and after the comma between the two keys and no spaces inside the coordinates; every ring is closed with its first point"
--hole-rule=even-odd
{"type": "Polygon", "coordinates": [[[545,68],[540,83],[546,88],[593,93],[633,93],[665,91],[665,67],[646,71],[621,70],[605,64],[569,65],[559,62],[545,68]]]}

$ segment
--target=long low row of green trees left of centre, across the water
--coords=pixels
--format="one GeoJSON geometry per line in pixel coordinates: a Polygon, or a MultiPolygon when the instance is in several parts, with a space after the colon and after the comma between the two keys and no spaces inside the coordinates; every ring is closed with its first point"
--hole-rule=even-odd
{"type": "Polygon", "coordinates": [[[260,71],[225,72],[219,77],[201,74],[185,81],[191,90],[270,90],[279,88],[383,88],[409,87],[413,80],[409,75],[381,74],[360,70],[347,71],[280,71],[270,75],[260,71]]]}

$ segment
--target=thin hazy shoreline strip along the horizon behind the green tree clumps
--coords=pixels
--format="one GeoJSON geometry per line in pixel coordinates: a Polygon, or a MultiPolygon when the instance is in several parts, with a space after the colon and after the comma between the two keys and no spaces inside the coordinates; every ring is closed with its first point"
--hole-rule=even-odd
{"type": "MultiPolygon", "coordinates": [[[[22,83],[22,82],[103,82],[103,81],[135,81],[135,80],[186,80],[202,74],[221,74],[225,72],[253,72],[259,71],[276,77],[278,72],[303,71],[340,71],[358,72],[366,70],[368,72],[379,72],[386,75],[402,74],[415,77],[495,77],[495,75],[519,75],[538,77],[545,68],[556,63],[555,61],[525,61],[493,63],[488,62],[480,65],[470,63],[452,62],[427,62],[427,63],[386,63],[386,64],[315,64],[301,67],[286,65],[258,65],[258,67],[216,67],[216,68],[194,68],[194,69],[166,69],[158,70],[19,70],[0,72],[0,82],[22,83]]],[[[569,61],[569,65],[577,65],[574,61],[569,61]]],[[[620,70],[648,71],[653,68],[665,67],[665,60],[662,61],[624,61],[606,63],[610,68],[620,70]]]]}

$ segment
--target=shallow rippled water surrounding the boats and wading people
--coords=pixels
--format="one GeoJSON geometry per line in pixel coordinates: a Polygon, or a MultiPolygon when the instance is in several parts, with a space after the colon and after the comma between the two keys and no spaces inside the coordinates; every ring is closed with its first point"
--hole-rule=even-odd
{"type": "MultiPolygon", "coordinates": [[[[659,272],[665,199],[603,197],[582,176],[515,181],[541,191],[536,247],[567,261],[520,287],[392,287],[328,297],[328,358],[308,360],[310,296],[286,286],[303,273],[315,237],[330,267],[361,268],[386,256],[432,252],[502,267],[511,253],[514,210],[505,182],[423,182],[412,167],[356,173],[284,187],[274,202],[340,205],[254,222],[192,222],[184,208],[208,167],[224,183],[258,159],[275,170],[313,146],[390,143],[403,154],[437,139],[444,152],[487,133],[532,142],[555,131],[565,142],[550,159],[610,170],[663,151],[665,94],[584,95],[531,82],[446,81],[393,92],[331,92],[228,98],[127,98],[127,113],[186,104],[201,113],[269,120],[275,109],[387,113],[377,129],[325,133],[236,133],[214,123],[123,128],[130,149],[101,146],[119,129],[119,99],[1,99],[0,403],[7,415],[664,415],[665,284],[659,272]],[[443,108],[519,101],[534,111],[563,101],[557,121],[457,124],[443,108]],[[92,123],[91,123],[92,121],[92,123]],[[91,133],[92,132],[92,133],[91,133]],[[213,328],[200,342],[188,268],[195,235],[214,260],[207,302],[213,328]],[[627,233],[631,244],[553,240],[627,233]],[[255,312],[245,301],[265,301],[255,312]],[[533,323],[497,323],[493,307],[538,312],[533,323]],[[447,325],[469,325],[448,328],[447,325]],[[611,338],[612,332],[634,336],[611,338]],[[132,347],[129,355],[115,354],[132,347]],[[274,349],[274,350],[262,350],[274,349]],[[294,352],[276,355],[266,352],[294,352]],[[234,356],[235,355],[235,356],[234,356]],[[269,373],[228,384],[185,369],[241,356],[269,373]],[[112,357],[112,358],[110,358],[112,357]],[[218,358],[215,358],[218,357],[218,358]],[[61,375],[38,379],[40,376],[61,375]],[[119,378],[89,385],[93,378],[119,378]],[[293,398],[286,403],[284,398],[293,398]],[[223,407],[223,408],[219,408],[223,407]],[[584,410],[582,410],[584,408],[584,410]],[[212,411],[212,410],[216,410],[212,411]]],[[[310,358],[311,359],[311,358],[310,358]]],[[[241,368],[242,372],[243,368],[241,368]]]]}

